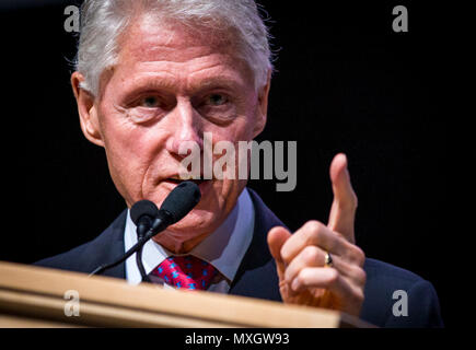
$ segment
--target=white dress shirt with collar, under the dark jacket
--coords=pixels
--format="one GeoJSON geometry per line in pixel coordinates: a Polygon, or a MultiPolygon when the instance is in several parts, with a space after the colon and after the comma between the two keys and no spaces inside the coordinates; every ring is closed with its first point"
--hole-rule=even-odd
{"type": "MultiPolygon", "coordinates": [[[[240,195],[235,207],[224,222],[194,249],[184,255],[194,255],[211,264],[223,277],[209,291],[228,293],[237,268],[252,242],[255,226],[255,209],[245,188],[240,195]]],[[[130,210],[127,213],[124,232],[126,252],[137,243],[136,224],[130,219],[130,210]]],[[[153,240],[149,240],[142,249],[142,262],[146,273],[150,273],[163,260],[173,253],[169,252],[153,240]]],[[[136,264],[136,254],[126,260],[126,279],[131,284],[141,282],[140,271],[136,264]]],[[[172,289],[169,284],[163,284],[172,289]]]]}

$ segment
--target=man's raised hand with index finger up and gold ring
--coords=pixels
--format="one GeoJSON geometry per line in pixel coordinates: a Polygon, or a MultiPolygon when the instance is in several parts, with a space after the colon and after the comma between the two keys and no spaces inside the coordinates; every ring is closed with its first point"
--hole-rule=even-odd
{"type": "Polygon", "coordinates": [[[294,234],[282,226],[274,228],[268,233],[268,245],[283,302],[358,316],[363,302],[365,256],[355,244],[357,196],[345,154],[334,158],[330,179],[334,201],[327,225],[307,221],[294,234]],[[333,260],[330,266],[325,265],[327,254],[333,260]]]}

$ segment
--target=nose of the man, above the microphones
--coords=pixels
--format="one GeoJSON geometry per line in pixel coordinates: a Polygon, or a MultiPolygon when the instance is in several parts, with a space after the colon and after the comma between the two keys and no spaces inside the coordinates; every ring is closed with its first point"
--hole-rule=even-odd
{"type": "Polygon", "coordinates": [[[190,101],[178,100],[167,118],[172,129],[166,141],[166,149],[170,153],[185,158],[187,153],[181,154],[181,145],[183,150],[187,150],[190,148],[189,142],[198,144],[200,151],[204,149],[201,116],[195,110],[190,101]]]}

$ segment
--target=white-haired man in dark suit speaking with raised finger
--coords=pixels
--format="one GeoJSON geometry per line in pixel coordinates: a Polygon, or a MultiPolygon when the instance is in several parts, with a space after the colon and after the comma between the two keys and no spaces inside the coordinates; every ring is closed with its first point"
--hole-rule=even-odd
{"type": "MultiPolygon", "coordinates": [[[[205,133],[236,145],[263,131],[272,67],[253,0],[86,0],[81,22],[71,77],[81,129],[105,149],[128,208],[141,199],[160,207],[182,182],[185,143],[204,152],[205,133]]],[[[356,245],[344,154],[329,173],[328,223],[293,234],[246,179],[198,180],[198,206],[144,246],[147,273],[164,287],[328,307],[378,326],[442,326],[431,283],[356,245]],[[394,312],[395,291],[407,293],[408,315],[394,312]]],[[[37,265],[91,272],[136,242],[124,211],[96,240],[37,265]]],[[[141,280],[132,258],[105,275],[141,280]]]]}

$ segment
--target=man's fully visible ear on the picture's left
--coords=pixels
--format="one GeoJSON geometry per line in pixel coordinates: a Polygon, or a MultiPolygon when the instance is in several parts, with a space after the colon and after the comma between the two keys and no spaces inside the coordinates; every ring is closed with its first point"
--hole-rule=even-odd
{"type": "Polygon", "coordinates": [[[71,74],[71,86],[78,104],[81,130],[84,137],[92,143],[104,147],[97,118],[97,104],[95,103],[95,97],[90,92],[80,88],[80,83],[83,81],[84,77],[80,72],[71,74]]]}

